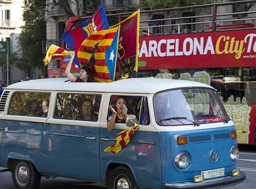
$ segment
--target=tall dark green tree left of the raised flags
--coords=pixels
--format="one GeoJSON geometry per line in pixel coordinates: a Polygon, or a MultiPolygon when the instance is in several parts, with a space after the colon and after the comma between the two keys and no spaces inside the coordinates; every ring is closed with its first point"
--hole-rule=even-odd
{"type": "Polygon", "coordinates": [[[22,32],[19,36],[19,54],[22,58],[18,58],[14,64],[20,70],[27,72],[34,67],[43,68],[42,63],[42,41],[46,39],[46,22],[45,22],[46,1],[41,0],[25,0],[22,32]]]}

